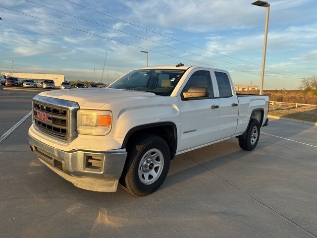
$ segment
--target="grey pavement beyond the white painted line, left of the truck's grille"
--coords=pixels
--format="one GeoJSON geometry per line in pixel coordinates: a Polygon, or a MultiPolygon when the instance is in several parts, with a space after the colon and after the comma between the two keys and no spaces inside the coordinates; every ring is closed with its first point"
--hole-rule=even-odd
{"type": "Polygon", "coordinates": [[[31,111],[32,98],[38,93],[17,89],[0,91],[0,136],[31,111]]]}

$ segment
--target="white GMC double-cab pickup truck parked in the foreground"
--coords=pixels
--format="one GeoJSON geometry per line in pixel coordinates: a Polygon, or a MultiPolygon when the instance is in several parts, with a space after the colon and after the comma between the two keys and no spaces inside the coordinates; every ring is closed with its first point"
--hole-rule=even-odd
{"type": "Polygon", "coordinates": [[[75,186],[156,191],[176,155],[232,137],[253,150],[267,125],[268,96],[237,95],[230,74],[199,66],[132,70],[107,88],[34,97],[29,144],[75,186]]]}

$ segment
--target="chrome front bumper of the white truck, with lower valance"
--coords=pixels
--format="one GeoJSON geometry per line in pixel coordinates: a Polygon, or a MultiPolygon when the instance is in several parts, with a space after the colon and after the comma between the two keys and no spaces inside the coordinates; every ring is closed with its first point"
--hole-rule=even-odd
{"type": "MultiPolygon", "coordinates": [[[[99,192],[115,192],[125,164],[125,149],[108,151],[62,151],[29,134],[31,150],[40,161],[75,186],[99,192]],[[98,165],[89,166],[97,158],[98,165]]],[[[94,165],[94,164],[93,164],[94,165]]]]}

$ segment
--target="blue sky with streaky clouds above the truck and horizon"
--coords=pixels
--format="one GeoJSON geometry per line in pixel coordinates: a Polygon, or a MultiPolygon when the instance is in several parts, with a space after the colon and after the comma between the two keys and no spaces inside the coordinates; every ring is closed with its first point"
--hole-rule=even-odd
{"type": "MultiPolygon", "coordinates": [[[[149,51],[150,66],[220,68],[235,85],[260,86],[266,8],[251,3],[1,0],[0,72],[14,61],[16,72],[94,81],[95,67],[100,82],[107,49],[107,83],[106,75],[112,82],[116,73],[146,66],[140,51],[149,51]]],[[[316,0],[269,3],[264,89],[297,89],[303,77],[317,75],[316,0]]]]}

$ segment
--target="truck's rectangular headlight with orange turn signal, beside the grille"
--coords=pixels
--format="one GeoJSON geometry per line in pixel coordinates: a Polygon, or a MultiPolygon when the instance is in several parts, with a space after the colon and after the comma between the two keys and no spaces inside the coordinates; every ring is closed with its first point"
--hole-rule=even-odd
{"type": "Polygon", "coordinates": [[[112,113],[110,111],[79,110],[77,112],[77,130],[79,134],[106,135],[111,130],[112,113]]]}

